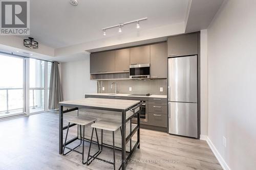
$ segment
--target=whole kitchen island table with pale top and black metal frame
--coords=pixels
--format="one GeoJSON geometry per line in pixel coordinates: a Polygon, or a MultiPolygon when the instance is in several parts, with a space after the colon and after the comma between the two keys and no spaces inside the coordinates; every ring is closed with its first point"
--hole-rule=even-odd
{"type": "MultiPolygon", "coordinates": [[[[139,119],[139,110],[141,104],[140,101],[134,100],[117,100],[117,99],[99,99],[99,98],[86,98],[80,100],[73,100],[73,101],[64,101],[59,103],[59,154],[62,154],[63,151],[63,130],[67,129],[68,127],[63,127],[63,114],[68,113],[71,111],[78,110],[80,114],[80,110],[88,109],[85,112],[89,112],[90,117],[93,114],[112,114],[113,112],[116,114],[114,117],[117,118],[120,116],[120,122],[122,124],[122,136],[121,136],[121,152],[122,152],[122,169],[125,169],[127,163],[131,159],[135,150],[140,148],[140,119],[139,119]],[[63,110],[63,107],[67,108],[68,110],[63,110]],[[95,112],[93,111],[95,110],[95,112]],[[119,116],[117,115],[119,114],[119,116]],[[131,118],[134,117],[135,114],[137,115],[137,126],[132,130],[131,118]],[[130,131],[126,130],[126,124],[130,122],[130,131]],[[129,132],[129,134],[126,134],[129,132]],[[132,137],[137,132],[137,141],[132,148],[132,137]],[[130,142],[130,151],[128,152],[129,155],[126,157],[126,144],[130,142]]],[[[70,127],[76,126],[76,124],[71,124],[70,127]]],[[[78,136],[67,141],[71,143],[78,139],[78,136]]],[[[88,141],[83,139],[84,141],[88,141]]],[[[115,147],[116,148],[116,147],[115,147]]]]}

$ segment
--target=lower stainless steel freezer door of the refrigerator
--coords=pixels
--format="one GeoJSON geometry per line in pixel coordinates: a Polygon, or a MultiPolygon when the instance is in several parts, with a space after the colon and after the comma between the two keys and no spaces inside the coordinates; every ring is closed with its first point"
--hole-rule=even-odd
{"type": "Polygon", "coordinates": [[[168,131],[197,138],[197,103],[168,102],[168,131]]]}

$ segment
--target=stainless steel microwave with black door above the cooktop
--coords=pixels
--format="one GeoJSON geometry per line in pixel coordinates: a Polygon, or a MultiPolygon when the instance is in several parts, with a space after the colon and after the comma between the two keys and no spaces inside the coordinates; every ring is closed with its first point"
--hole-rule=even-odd
{"type": "Polygon", "coordinates": [[[130,79],[150,79],[150,64],[130,65],[130,79]]]}

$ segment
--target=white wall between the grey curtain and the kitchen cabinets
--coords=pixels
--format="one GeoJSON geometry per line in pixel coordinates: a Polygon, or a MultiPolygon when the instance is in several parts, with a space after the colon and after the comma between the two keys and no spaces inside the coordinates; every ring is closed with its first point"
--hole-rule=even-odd
{"type": "Polygon", "coordinates": [[[96,92],[96,81],[90,80],[90,56],[84,60],[61,63],[61,85],[64,100],[84,98],[96,92]]]}

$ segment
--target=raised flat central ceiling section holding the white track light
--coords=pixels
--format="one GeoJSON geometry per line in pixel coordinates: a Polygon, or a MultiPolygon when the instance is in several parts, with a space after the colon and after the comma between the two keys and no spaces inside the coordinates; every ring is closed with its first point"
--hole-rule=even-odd
{"type": "MultiPolygon", "coordinates": [[[[189,0],[69,0],[30,1],[31,37],[53,48],[70,46],[105,38],[102,28],[143,17],[141,29],[152,29],[182,22],[189,0]]],[[[121,34],[135,31],[136,25],[125,26],[121,34]]],[[[115,36],[117,29],[106,32],[115,36]]]]}

